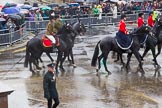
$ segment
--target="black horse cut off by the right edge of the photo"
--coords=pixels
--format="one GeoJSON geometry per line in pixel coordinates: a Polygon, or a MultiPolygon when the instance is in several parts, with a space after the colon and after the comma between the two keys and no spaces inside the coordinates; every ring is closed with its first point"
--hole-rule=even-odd
{"type": "Polygon", "coordinates": [[[152,55],[153,55],[153,61],[155,63],[155,66],[158,66],[158,67],[160,67],[160,65],[158,64],[156,58],[161,52],[161,46],[162,46],[162,34],[161,34],[161,32],[162,32],[162,17],[159,17],[156,20],[154,27],[152,29],[152,35],[149,36],[147,41],[146,41],[146,48],[145,48],[145,51],[142,55],[142,58],[144,58],[144,56],[147,54],[147,52],[151,49],[152,55]],[[156,46],[158,46],[158,53],[157,54],[155,54],[156,46]]]}

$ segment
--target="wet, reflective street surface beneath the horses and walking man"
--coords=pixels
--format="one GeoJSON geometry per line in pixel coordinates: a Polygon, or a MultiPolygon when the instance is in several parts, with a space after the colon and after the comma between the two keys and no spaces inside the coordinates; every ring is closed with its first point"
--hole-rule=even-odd
{"type": "MultiPolygon", "coordinates": [[[[108,76],[102,65],[100,76],[96,76],[95,68],[90,66],[94,47],[105,36],[114,36],[115,31],[112,26],[97,27],[77,37],[73,48],[77,67],[69,66],[66,61],[65,72],[60,72],[57,78],[59,108],[162,108],[162,77],[154,77],[151,52],[144,59],[145,76],[136,73],[135,57],[127,74],[120,63],[114,62],[112,54],[107,61],[112,75],[108,76]]],[[[0,82],[14,89],[9,95],[9,108],[46,108],[42,84],[46,68],[34,75],[24,68],[23,49],[7,51],[0,58],[0,82]]],[[[56,60],[56,54],[51,55],[56,60]]],[[[50,63],[45,54],[42,59],[45,65],[50,63]]],[[[162,66],[161,55],[158,62],[162,66]]]]}

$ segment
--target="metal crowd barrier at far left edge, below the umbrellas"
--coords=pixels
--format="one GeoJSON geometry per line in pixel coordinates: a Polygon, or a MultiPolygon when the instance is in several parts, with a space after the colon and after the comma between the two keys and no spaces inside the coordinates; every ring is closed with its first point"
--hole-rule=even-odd
{"type": "Polygon", "coordinates": [[[15,28],[0,30],[0,45],[11,45],[14,42],[22,40],[27,36],[25,26],[21,26],[19,30],[15,30],[15,28]]]}

